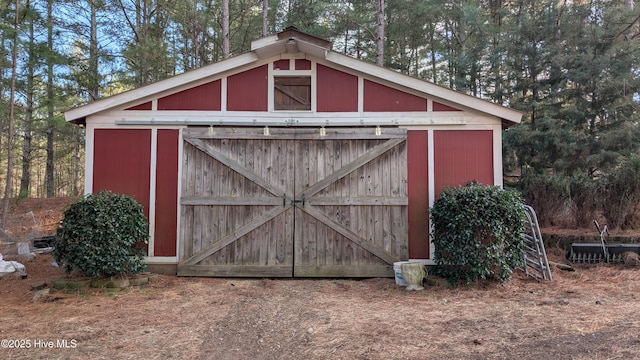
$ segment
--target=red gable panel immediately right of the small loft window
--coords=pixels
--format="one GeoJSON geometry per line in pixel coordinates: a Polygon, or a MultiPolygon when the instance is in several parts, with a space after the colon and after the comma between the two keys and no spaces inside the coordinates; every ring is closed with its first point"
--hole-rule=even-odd
{"type": "Polygon", "coordinates": [[[318,112],[358,111],[358,77],[317,66],[318,112]]]}

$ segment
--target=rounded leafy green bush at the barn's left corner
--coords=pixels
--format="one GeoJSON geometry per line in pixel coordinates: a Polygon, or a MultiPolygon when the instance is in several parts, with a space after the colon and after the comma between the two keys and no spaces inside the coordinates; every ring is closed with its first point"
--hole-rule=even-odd
{"type": "Polygon", "coordinates": [[[132,197],[101,191],[73,203],[57,231],[54,255],[67,273],[91,277],[145,270],[147,221],[132,197]]]}

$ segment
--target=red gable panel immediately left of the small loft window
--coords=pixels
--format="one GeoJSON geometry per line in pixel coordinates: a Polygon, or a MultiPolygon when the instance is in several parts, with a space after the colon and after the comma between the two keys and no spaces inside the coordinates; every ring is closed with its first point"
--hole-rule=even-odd
{"type": "Polygon", "coordinates": [[[267,65],[227,78],[227,110],[267,111],[267,65]]]}

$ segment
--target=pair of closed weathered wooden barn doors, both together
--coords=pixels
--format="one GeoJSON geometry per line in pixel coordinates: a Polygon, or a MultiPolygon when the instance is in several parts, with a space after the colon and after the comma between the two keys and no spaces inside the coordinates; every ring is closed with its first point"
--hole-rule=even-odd
{"type": "Polygon", "coordinates": [[[406,132],[183,132],[179,275],[390,276],[407,256],[406,132]]]}

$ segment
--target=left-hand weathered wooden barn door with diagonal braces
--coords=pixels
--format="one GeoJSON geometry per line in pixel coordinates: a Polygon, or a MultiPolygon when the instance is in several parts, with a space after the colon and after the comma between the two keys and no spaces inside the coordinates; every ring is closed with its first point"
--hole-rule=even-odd
{"type": "Polygon", "coordinates": [[[183,139],[178,275],[292,276],[292,141],[218,128],[183,139]]]}

